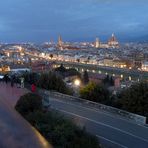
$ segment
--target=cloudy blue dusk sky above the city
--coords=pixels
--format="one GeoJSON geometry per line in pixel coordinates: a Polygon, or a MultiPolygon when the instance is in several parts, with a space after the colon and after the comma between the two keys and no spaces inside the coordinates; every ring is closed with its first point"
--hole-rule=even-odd
{"type": "Polygon", "coordinates": [[[6,0],[0,6],[0,42],[147,41],[146,0],[6,0]]]}

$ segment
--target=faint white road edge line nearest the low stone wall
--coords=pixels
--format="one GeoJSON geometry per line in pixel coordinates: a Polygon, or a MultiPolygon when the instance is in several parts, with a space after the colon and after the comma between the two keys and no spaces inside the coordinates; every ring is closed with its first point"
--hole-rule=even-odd
{"type": "MultiPolygon", "coordinates": [[[[61,103],[65,103],[65,104],[69,104],[69,105],[78,107],[78,105],[72,104],[70,101],[67,102],[67,101],[65,101],[65,100],[59,100],[59,99],[55,99],[55,98],[50,98],[50,100],[53,100],[53,101],[57,101],[57,102],[61,102],[61,103]]],[[[143,125],[141,125],[141,124],[137,124],[137,123],[134,123],[134,122],[129,121],[129,120],[127,120],[127,119],[121,118],[121,117],[118,116],[118,115],[117,115],[117,116],[111,115],[111,114],[109,114],[109,113],[106,113],[105,111],[102,111],[102,110],[99,110],[99,109],[93,109],[92,107],[90,107],[90,108],[84,107],[84,106],[79,106],[79,107],[84,108],[84,109],[87,109],[87,110],[94,111],[94,112],[96,112],[96,113],[100,113],[100,112],[101,112],[101,113],[103,113],[104,115],[107,115],[107,116],[109,116],[109,117],[112,117],[112,118],[115,118],[115,119],[118,119],[118,120],[123,120],[123,121],[125,121],[125,122],[130,123],[130,124],[134,124],[134,125],[141,126],[141,127],[143,127],[143,128],[148,129],[148,127],[146,127],[146,126],[143,126],[143,125]],[[118,118],[116,118],[116,117],[118,117],[118,118]]]]}

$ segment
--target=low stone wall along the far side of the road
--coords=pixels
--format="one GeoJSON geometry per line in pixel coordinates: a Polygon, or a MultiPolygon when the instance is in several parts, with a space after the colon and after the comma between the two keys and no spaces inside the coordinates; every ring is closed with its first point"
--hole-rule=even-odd
{"type": "Polygon", "coordinates": [[[54,92],[54,91],[47,91],[47,90],[41,90],[39,89],[38,92],[44,96],[45,101],[50,101],[49,97],[53,97],[53,98],[57,98],[57,99],[63,99],[65,101],[70,101],[70,102],[75,102],[75,103],[79,103],[79,104],[83,104],[87,107],[92,107],[98,110],[102,110],[108,113],[112,113],[115,115],[118,115],[120,117],[126,118],[128,120],[134,121],[138,124],[146,124],[146,117],[141,116],[141,115],[137,115],[137,114],[133,114],[124,110],[120,110],[111,106],[107,106],[107,105],[103,105],[100,103],[96,103],[93,101],[88,101],[85,99],[81,99],[78,97],[74,97],[74,96],[69,96],[69,95],[65,95],[65,94],[61,94],[58,92],[54,92]]]}

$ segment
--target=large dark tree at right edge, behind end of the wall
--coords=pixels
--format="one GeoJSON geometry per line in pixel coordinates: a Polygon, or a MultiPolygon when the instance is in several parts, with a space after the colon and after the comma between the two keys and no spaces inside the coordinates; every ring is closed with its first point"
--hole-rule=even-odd
{"type": "Polygon", "coordinates": [[[140,82],[123,90],[118,95],[122,109],[148,117],[148,83],[140,82]]]}

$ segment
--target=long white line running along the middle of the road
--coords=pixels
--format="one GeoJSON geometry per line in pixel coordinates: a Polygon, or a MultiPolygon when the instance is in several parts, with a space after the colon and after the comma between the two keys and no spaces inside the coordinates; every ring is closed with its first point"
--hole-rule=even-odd
{"type": "Polygon", "coordinates": [[[93,120],[93,119],[89,119],[89,118],[87,118],[87,117],[83,117],[83,116],[77,115],[77,114],[75,114],[75,113],[71,113],[71,112],[68,112],[68,111],[62,110],[62,109],[58,109],[58,108],[56,108],[56,110],[59,110],[59,111],[61,111],[61,112],[63,112],[63,113],[66,113],[66,114],[70,114],[70,115],[73,115],[73,116],[77,116],[77,117],[80,117],[80,118],[86,119],[86,120],[88,120],[88,121],[94,122],[94,123],[99,124],[99,125],[103,125],[103,126],[106,126],[106,127],[112,128],[112,129],[117,130],[117,131],[119,131],[119,132],[121,132],[121,133],[127,134],[127,135],[129,135],[129,136],[135,137],[135,138],[137,138],[137,139],[140,139],[140,140],[142,140],[142,141],[148,143],[148,140],[147,140],[147,139],[144,139],[144,138],[141,138],[141,137],[136,136],[136,135],[134,135],[134,134],[131,134],[131,133],[129,133],[129,132],[123,131],[123,130],[121,130],[121,129],[119,129],[119,128],[116,128],[116,127],[113,127],[113,126],[110,126],[110,125],[107,125],[107,124],[101,123],[101,122],[96,121],[96,120],[93,120]]]}

